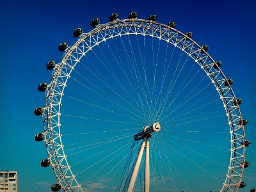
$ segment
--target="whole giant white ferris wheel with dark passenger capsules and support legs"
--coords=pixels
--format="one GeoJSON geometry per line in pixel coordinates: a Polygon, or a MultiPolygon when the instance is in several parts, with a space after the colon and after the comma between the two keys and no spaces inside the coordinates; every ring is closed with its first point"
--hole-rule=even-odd
{"type": "Polygon", "coordinates": [[[74,31],[74,45],[59,45],[60,63],[47,63],[35,140],[45,142],[52,191],[243,188],[250,141],[234,81],[193,33],[137,15],[93,19],[92,31],[74,31]]]}

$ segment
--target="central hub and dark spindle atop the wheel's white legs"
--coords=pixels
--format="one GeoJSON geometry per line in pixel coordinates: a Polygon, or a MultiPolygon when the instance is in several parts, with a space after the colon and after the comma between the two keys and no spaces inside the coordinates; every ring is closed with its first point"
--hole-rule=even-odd
{"type": "Polygon", "coordinates": [[[143,127],[143,131],[138,132],[137,134],[134,135],[134,141],[138,141],[138,140],[148,140],[149,138],[151,138],[151,133],[152,132],[159,132],[161,129],[161,126],[159,124],[159,122],[154,123],[151,126],[145,126],[143,127]]]}

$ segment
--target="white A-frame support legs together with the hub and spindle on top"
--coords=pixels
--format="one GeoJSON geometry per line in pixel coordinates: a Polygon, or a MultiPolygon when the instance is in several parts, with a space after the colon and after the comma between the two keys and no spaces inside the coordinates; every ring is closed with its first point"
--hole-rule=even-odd
{"type": "Polygon", "coordinates": [[[134,169],[132,171],[131,180],[127,189],[127,192],[132,192],[134,188],[134,184],[138,175],[138,171],[140,168],[141,163],[141,157],[143,155],[143,150],[146,148],[146,154],[145,154],[145,173],[144,173],[144,192],[149,192],[149,186],[150,186],[150,171],[149,171],[149,141],[148,139],[151,138],[152,132],[158,132],[160,131],[161,126],[159,122],[154,123],[151,126],[145,126],[143,127],[143,131],[138,132],[134,135],[134,140],[143,140],[140,148],[140,152],[138,154],[138,159],[136,161],[136,164],[134,166],[134,169]]]}

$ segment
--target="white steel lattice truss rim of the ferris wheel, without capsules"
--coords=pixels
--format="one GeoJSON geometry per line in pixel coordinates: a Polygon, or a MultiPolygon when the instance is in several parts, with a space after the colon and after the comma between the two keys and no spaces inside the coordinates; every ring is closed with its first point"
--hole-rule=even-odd
{"type": "MultiPolygon", "coordinates": [[[[45,91],[46,100],[43,115],[44,132],[45,135],[47,135],[45,144],[47,146],[49,159],[51,159],[52,169],[54,170],[58,182],[61,184],[63,190],[83,191],[81,186],[78,184],[75,175],[73,175],[70,166],[68,165],[67,156],[65,156],[65,152],[63,150],[60,134],[61,98],[65,89],[65,83],[67,83],[73,68],[79,61],[79,58],[77,58],[76,63],[73,66],[70,66],[67,62],[68,58],[72,57],[72,52],[74,52],[74,50],[77,49],[80,44],[83,44],[83,42],[88,39],[91,39],[91,43],[93,40],[95,42],[92,47],[88,46],[83,54],[92,49],[95,45],[98,45],[101,42],[108,40],[109,38],[115,38],[119,35],[152,35],[154,38],[165,40],[166,42],[177,46],[179,49],[186,52],[186,54],[189,54],[189,56],[193,58],[193,60],[195,60],[198,65],[200,65],[206,75],[211,79],[212,84],[214,84],[216,87],[216,91],[219,93],[220,99],[223,102],[225,111],[227,113],[228,124],[230,126],[230,165],[228,166],[227,177],[223,183],[223,188],[221,191],[237,191],[241,182],[244,168],[243,166],[241,167],[241,172],[237,172],[236,168],[241,163],[241,160],[244,163],[245,159],[245,146],[241,146],[237,143],[244,141],[245,136],[243,125],[237,124],[237,122],[242,119],[239,106],[232,106],[232,101],[236,99],[234,92],[231,86],[226,87],[223,85],[223,82],[226,81],[227,78],[224,76],[219,67],[216,69],[212,68],[212,64],[216,62],[211,58],[211,56],[209,56],[207,52],[200,52],[202,47],[196,44],[194,40],[188,38],[184,33],[181,33],[177,29],[170,28],[158,22],[152,22],[144,19],[115,20],[113,22],[108,22],[107,24],[101,24],[89,33],[84,33],[79,38],[77,38],[77,42],[72,47],[68,47],[67,51],[65,51],[63,54],[61,63],[58,64],[52,71],[53,76],[51,84],[45,91]],[[105,33],[105,35],[107,35],[108,32],[111,33],[111,30],[115,31],[115,29],[121,29],[119,31],[120,34],[116,33],[116,35],[108,35],[108,38],[100,36],[101,33],[105,33]],[[125,29],[127,30],[125,31],[125,29]],[[141,33],[140,30],[144,31],[144,34],[141,33]],[[101,40],[98,41],[99,39],[101,40]],[[184,44],[185,41],[187,42],[186,44],[184,44]],[[62,69],[65,65],[69,65],[68,67],[70,67],[70,72],[66,74],[67,78],[65,81],[59,81],[58,78],[63,75],[62,69]],[[237,137],[236,131],[240,129],[242,130],[243,134],[238,134],[240,137],[237,137]],[[60,141],[57,142],[56,140],[60,141]],[[239,150],[242,150],[243,152],[239,153],[239,150]],[[239,157],[237,157],[237,154],[239,154],[239,157]]],[[[84,55],[81,57],[83,56],[84,55]]]]}

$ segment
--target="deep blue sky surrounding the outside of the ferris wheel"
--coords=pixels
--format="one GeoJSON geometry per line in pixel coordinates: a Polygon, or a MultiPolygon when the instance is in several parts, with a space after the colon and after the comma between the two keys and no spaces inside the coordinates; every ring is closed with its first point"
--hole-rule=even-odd
{"type": "Polygon", "coordinates": [[[113,12],[126,19],[132,12],[138,18],[157,15],[157,21],[176,22],[176,29],[192,31],[198,44],[209,45],[209,54],[221,60],[225,76],[234,79],[232,88],[243,99],[241,112],[248,119],[246,160],[243,180],[250,191],[256,188],[255,157],[255,1],[5,1],[1,3],[1,158],[0,170],[19,174],[19,191],[47,191],[55,182],[51,168],[41,168],[47,157],[44,143],[34,136],[43,131],[40,117],[33,109],[44,105],[44,93],[37,86],[49,83],[51,73],[45,70],[49,60],[60,61],[58,44],[74,44],[76,28],[90,31],[90,20],[108,22],[113,12]],[[28,189],[29,186],[29,189],[28,189]]]}

